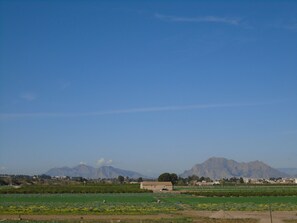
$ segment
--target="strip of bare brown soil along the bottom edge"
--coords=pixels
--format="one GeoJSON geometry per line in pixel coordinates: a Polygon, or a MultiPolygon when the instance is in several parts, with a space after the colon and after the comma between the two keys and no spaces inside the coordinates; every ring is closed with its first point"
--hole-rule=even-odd
{"type": "MultiPolygon", "coordinates": [[[[141,221],[141,220],[162,220],[188,217],[193,222],[259,222],[271,223],[269,212],[249,212],[249,211],[180,211],[174,214],[157,214],[157,215],[0,215],[0,222],[5,220],[73,220],[73,221],[141,221]]],[[[279,211],[272,213],[273,223],[297,222],[297,211],[279,211]]]]}

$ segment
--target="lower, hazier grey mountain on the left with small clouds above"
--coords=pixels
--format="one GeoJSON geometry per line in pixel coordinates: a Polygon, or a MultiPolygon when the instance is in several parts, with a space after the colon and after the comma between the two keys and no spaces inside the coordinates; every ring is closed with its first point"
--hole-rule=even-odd
{"type": "Polygon", "coordinates": [[[118,169],[112,166],[102,166],[99,168],[94,168],[92,166],[87,166],[80,164],[76,167],[61,167],[53,168],[45,173],[49,176],[69,176],[69,177],[84,177],[89,179],[110,179],[116,178],[118,176],[124,176],[129,178],[139,178],[145,177],[144,175],[128,170],[118,169]]]}

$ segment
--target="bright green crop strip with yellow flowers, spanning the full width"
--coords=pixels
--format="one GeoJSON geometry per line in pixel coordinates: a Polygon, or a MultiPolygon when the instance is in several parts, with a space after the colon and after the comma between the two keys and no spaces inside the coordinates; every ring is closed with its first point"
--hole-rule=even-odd
{"type": "Polygon", "coordinates": [[[148,215],[180,210],[296,211],[296,196],[197,197],[187,194],[5,194],[0,214],[148,215]],[[159,202],[158,202],[159,200],[159,202]]]}

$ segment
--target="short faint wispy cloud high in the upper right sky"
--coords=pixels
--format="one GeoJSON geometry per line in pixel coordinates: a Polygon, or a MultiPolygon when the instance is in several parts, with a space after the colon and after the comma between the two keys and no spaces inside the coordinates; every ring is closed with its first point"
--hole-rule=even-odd
{"type": "Polygon", "coordinates": [[[200,17],[180,17],[180,16],[170,16],[155,14],[155,18],[169,21],[169,22],[196,22],[196,23],[222,23],[229,25],[239,25],[241,19],[239,18],[229,18],[229,17],[219,17],[219,16],[200,16],[200,17]]]}

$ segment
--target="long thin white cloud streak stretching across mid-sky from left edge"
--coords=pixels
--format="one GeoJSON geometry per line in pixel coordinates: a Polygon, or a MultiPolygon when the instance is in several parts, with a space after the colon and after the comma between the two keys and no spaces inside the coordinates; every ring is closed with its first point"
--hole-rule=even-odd
{"type": "Polygon", "coordinates": [[[132,108],[97,112],[84,113],[0,113],[0,120],[19,119],[19,118],[50,118],[50,117],[83,117],[83,116],[103,116],[117,114],[133,114],[133,113],[151,113],[151,112],[170,112],[183,110],[199,110],[199,109],[215,109],[215,108],[235,108],[235,107],[251,107],[259,105],[269,105],[279,102],[266,103],[230,103],[230,104],[201,104],[201,105],[185,105],[185,106],[167,106],[167,107],[146,107],[132,108]]]}

